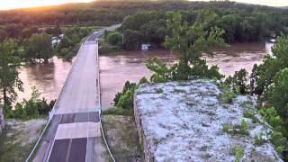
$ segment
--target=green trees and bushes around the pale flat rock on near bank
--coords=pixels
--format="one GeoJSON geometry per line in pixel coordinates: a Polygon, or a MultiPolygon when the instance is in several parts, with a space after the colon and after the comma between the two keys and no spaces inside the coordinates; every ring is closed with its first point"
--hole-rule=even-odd
{"type": "MultiPolygon", "coordinates": [[[[275,149],[285,160],[287,155],[284,150],[288,147],[287,137],[287,53],[288,39],[282,34],[277,38],[273,48],[273,54],[266,56],[264,62],[255,65],[252,73],[248,76],[245,69],[241,69],[234,76],[228,76],[226,79],[220,75],[217,67],[209,68],[202,60],[202,53],[211,52],[211,47],[215,45],[225,46],[222,39],[223,31],[220,28],[213,28],[211,31],[203,32],[205,25],[211,24],[213,18],[211,13],[198,14],[198,20],[192,25],[188,25],[183,20],[183,15],[179,13],[169,13],[169,19],[166,21],[167,28],[173,29],[173,32],[166,36],[166,48],[173,49],[179,54],[179,63],[167,67],[165,63],[157,58],[148,60],[147,67],[153,72],[150,78],[150,84],[165,83],[169,81],[191,80],[198,78],[211,78],[220,80],[220,86],[223,90],[225,102],[232,103],[238,94],[257,95],[258,112],[264,117],[265,121],[274,128],[274,133],[269,140],[275,145],[275,149]],[[208,16],[208,17],[205,17],[208,16]],[[200,20],[204,17],[203,22],[200,20]],[[211,20],[211,22],[209,22],[211,20]],[[201,46],[200,46],[201,45],[201,46]]],[[[144,82],[148,82],[147,79],[144,82]]],[[[143,81],[141,81],[143,82],[143,81]]],[[[115,97],[116,108],[112,113],[133,111],[133,95],[136,84],[126,83],[123,91],[115,97]]],[[[254,112],[245,112],[246,117],[257,122],[254,112]]],[[[239,125],[239,130],[245,133],[245,121],[239,125]]],[[[223,126],[223,130],[230,130],[230,125],[223,126]]],[[[260,136],[256,138],[257,143],[261,144],[260,136]]],[[[235,148],[234,154],[238,160],[242,155],[241,148],[235,148]]]]}

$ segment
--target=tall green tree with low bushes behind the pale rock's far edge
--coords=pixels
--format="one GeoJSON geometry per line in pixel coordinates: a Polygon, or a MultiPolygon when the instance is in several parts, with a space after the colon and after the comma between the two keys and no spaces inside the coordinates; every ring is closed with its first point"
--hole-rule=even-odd
{"type": "Polygon", "coordinates": [[[226,45],[221,38],[224,31],[217,27],[211,28],[216,18],[217,14],[202,11],[197,15],[195,23],[189,26],[182,14],[168,13],[166,24],[172,33],[166,36],[165,46],[179,54],[180,59],[173,67],[166,67],[157,58],[150,59],[147,67],[155,72],[151,77],[152,81],[221,78],[219,68],[216,66],[209,68],[202,59],[203,53],[213,55],[211,48],[226,45]]]}

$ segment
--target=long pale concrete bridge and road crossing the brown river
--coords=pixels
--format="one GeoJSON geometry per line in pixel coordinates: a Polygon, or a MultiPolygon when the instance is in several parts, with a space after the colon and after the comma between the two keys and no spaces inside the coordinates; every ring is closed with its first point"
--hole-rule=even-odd
{"type": "Polygon", "coordinates": [[[81,45],[49,121],[26,161],[102,162],[101,96],[98,41],[104,30],[91,34],[81,45]],[[34,158],[32,158],[34,156],[34,158]]]}

